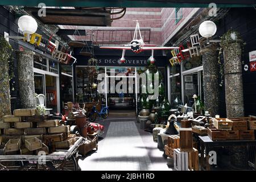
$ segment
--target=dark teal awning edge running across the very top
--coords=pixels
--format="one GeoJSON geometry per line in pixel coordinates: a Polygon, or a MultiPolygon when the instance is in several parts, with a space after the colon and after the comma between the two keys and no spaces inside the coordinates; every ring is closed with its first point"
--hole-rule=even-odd
{"type": "MultiPolygon", "coordinates": [[[[256,5],[255,0],[44,0],[46,6],[71,7],[208,7],[209,3],[216,3],[218,7],[245,7],[256,5]]],[[[1,1],[1,5],[38,6],[41,0],[13,0],[1,1]]]]}

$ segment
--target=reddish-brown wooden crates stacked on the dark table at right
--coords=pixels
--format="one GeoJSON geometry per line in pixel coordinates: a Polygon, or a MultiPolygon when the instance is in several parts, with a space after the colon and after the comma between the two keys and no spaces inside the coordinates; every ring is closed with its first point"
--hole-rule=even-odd
{"type": "Polygon", "coordinates": [[[213,118],[213,126],[208,127],[212,140],[254,140],[256,118],[213,118]]]}

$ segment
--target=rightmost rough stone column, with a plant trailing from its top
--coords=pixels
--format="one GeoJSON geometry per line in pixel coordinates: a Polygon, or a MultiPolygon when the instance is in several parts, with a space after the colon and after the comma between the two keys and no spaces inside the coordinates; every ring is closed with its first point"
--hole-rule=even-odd
{"type": "Polygon", "coordinates": [[[221,47],[224,51],[226,116],[228,118],[244,116],[241,43],[242,40],[238,32],[228,31],[222,36],[221,47]]]}

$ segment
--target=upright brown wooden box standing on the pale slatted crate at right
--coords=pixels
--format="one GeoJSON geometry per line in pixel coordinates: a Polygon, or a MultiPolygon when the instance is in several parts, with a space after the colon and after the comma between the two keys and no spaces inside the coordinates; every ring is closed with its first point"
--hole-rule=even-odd
{"type": "Polygon", "coordinates": [[[193,138],[191,128],[180,128],[180,150],[193,151],[193,138]]]}

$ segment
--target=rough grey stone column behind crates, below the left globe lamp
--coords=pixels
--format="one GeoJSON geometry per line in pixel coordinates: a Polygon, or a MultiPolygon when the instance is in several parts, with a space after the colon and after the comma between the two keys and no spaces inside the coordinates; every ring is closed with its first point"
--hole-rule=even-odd
{"type": "Polygon", "coordinates": [[[16,51],[18,62],[19,97],[22,108],[36,106],[34,82],[34,52],[16,51]]]}

